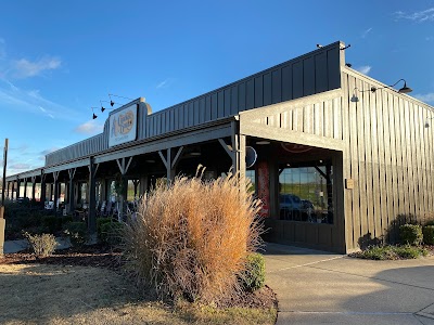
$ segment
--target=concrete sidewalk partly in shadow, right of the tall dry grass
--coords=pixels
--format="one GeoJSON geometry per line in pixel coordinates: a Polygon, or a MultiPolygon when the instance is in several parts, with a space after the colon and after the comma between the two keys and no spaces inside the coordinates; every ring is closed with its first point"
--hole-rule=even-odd
{"type": "Polygon", "coordinates": [[[371,261],[267,244],[277,324],[433,324],[434,257],[371,261]]]}

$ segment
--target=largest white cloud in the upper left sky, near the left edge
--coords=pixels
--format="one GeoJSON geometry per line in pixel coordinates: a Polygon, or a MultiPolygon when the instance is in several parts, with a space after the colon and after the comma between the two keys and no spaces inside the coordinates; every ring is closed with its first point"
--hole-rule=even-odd
{"type": "Polygon", "coordinates": [[[31,62],[26,58],[14,61],[11,74],[15,78],[28,78],[43,74],[46,70],[54,70],[61,66],[62,62],[58,57],[42,57],[31,62]]]}

